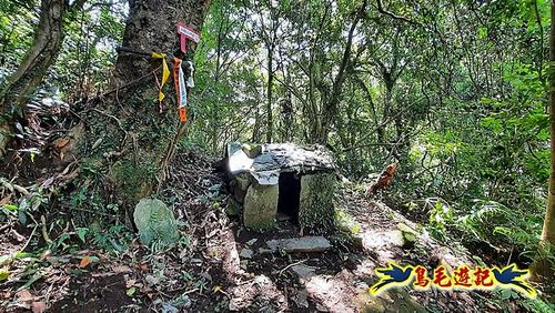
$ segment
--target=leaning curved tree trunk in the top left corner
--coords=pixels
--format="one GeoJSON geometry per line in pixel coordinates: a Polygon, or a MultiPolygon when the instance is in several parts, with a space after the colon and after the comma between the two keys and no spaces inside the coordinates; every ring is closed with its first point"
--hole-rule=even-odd
{"type": "MultiPolygon", "coordinates": [[[[81,3],[82,4],[82,3],[81,3]]],[[[31,48],[2,90],[0,100],[0,158],[13,134],[14,122],[23,120],[23,107],[56,62],[63,40],[65,0],[42,0],[40,20],[31,48]]]]}

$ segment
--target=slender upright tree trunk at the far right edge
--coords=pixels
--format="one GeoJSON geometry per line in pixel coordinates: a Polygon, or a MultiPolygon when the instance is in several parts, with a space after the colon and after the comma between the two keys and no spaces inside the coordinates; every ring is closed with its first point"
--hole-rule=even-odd
{"type": "Polygon", "coordinates": [[[541,253],[532,266],[532,274],[535,280],[551,281],[554,276],[551,262],[544,252],[553,253],[555,246],[555,0],[551,3],[551,34],[549,34],[549,124],[551,124],[551,172],[549,193],[547,195],[547,210],[545,211],[544,229],[539,240],[541,253]]]}

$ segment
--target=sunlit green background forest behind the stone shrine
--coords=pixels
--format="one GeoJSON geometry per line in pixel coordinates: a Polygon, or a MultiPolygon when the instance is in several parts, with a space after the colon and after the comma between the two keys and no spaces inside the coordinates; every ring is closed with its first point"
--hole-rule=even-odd
{"type": "MultiPolygon", "coordinates": [[[[0,0],[3,87],[38,2],[0,0]]],[[[121,0],[65,14],[29,103],[79,112],[109,91],[128,14],[121,0]]],[[[547,0],[213,0],[179,149],[220,158],[230,141],[320,143],[362,184],[398,161],[384,203],[485,261],[529,265],[549,175],[549,26],[547,0]]]]}

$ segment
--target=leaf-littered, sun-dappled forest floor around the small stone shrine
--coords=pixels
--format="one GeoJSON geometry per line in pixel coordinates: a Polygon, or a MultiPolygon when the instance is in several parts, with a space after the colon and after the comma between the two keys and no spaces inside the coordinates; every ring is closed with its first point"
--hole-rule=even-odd
{"type": "MultiPolygon", "coordinates": [[[[176,156],[163,198],[183,221],[184,243],[153,253],[133,239],[124,249],[88,246],[72,253],[32,253],[29,239],[41,230],[0,228],[0,311],[7,312],[522,312],[519,296],[493,291],[392,289],[373,296],[374,269],[390,261],[474,265],[462,245],[442,244],[363,190],[343,183],[337,206],[343,231],[324,233],[325,252],[265,252],[266,241],[299,238],[281,222],[271,232],[243,229],[225,211],[222,182],[210,160],[193,151],[176,156]],[[349,230],[349,231],[346,231],[349,230]],[[406,231],[416,233],[404,240],[406,231]],[[347,234],[349,233],[349,234],[347,234]],[[18,238],[18,235],[20,238],[18,238]],[[6,271],[9,269],[9,272],[6,271]],[[1,272],[0,272],[1,274],[1,272]]],[[[68,226],[70,221],[68,221],[68,226]]],[[[37,233],[37,234],[36,234],[37,233]]],[[[40,241],[38,243],[40,245],[40,241]]],[[[34,248],[37,249],[37,248],[34,248]]]]}

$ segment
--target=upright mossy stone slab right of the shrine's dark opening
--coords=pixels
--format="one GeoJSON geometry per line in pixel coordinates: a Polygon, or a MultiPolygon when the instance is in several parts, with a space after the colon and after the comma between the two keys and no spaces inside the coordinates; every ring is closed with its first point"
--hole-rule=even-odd
{"type": "Polygon", "coordinates": [[[301,178],[299,224],[307,229],[334,226],[336,180],[334,173],[305,174],[301,178]]]}

